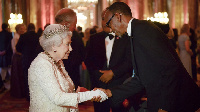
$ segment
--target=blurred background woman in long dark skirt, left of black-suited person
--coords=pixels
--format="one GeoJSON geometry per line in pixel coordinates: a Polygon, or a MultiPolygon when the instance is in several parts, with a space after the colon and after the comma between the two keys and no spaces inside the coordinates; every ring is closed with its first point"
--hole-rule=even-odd
{"type": "Polygon", "coordinates": [[[12,57],[12,67],[11,67],[11,81],[10,81],[10,95],[16,98],[25,97],[24,88],[24,75],[22,68],[22,55],[17,52],[16,45],[19,41],[20,35],[26,32],[25,24],[18,24],[15,27],[16,32],[11,41],[13,57],[12,57]]]}

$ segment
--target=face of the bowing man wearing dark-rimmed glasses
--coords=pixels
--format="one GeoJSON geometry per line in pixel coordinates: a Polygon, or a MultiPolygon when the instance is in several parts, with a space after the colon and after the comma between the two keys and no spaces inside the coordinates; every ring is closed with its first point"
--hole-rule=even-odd
{"type": "Polygon", "coordinates": [[[126,32],[126,28],[123,28],[121,15],[118,13],[112,14],[110,11],[107,11],[105,15],[105,22],[106,26],[110,27],[112,32],[120,37],[126,32]]]}

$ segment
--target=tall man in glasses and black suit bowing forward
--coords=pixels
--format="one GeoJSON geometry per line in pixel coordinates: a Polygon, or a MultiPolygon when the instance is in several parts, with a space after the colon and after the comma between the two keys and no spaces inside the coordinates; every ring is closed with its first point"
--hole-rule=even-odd
{"type": "Polygon", "coordinates": [[[194,112],[200,107],[200,88],[155,24],[132,18],[130,7],[123,2],[115,2],[108,8],[105,21],[117,35],[131,36],[135,71],[134,78],[126,84],[105,90],[113,102],[145,88],[149,112],[194,112]]]}

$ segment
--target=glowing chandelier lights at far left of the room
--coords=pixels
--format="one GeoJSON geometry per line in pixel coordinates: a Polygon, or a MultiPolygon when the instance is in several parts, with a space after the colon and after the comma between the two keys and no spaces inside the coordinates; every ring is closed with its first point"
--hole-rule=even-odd
{"type": "Polygon", "coordinates": [[[23,19],[22,19],[22,15],[19,14],[10,14],[10,19],[8,20],[8,24],[10,25],[10,30],[11,32],[15,32],[15,26],[17,24],[22,24],[23,23],[23,19]]]}

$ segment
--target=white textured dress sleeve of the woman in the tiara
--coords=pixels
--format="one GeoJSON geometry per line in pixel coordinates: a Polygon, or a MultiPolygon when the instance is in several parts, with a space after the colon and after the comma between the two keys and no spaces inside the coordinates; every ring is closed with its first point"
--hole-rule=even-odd
{"type": "Polygon", "coordinates": [[[78,93],[67,93],[61,90],[54,75],[53,66],[46,61],[39,62],[35,69],[30,69],[31,75],[35,75],[36,83],[39,84],[44,94],[50,101],[59,106],[74,106],[78,104],[78,93]],[[34,71],[32,71],[34,70],[34,71]]]}

